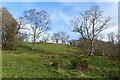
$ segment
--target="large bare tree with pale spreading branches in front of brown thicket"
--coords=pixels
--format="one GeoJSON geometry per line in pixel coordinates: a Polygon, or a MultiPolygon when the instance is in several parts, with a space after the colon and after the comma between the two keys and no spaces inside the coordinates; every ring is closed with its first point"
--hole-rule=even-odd
{"type": "Polygon", "coordinates": [[[94,52],[94,39],[103,30],[108,28],[111,18],[104,16],[99,6],[93,6],[91,9],[81,13],[80,16],[72,20],[73,32],[81,34],[83,39],[89,39],[91,43],[90,55],[94,52]]]}

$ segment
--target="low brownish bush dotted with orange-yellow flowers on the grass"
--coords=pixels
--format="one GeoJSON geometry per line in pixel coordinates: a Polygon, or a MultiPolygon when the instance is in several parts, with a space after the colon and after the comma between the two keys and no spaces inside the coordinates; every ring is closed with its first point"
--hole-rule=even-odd
{"type": "Polygon", "coordinates": [[[78,57],[73,61],[71,61],[71,64],[72,64],[72,68],[75,68],[79,71],[87,71],[89,60],[85,57],[78,57]]]}

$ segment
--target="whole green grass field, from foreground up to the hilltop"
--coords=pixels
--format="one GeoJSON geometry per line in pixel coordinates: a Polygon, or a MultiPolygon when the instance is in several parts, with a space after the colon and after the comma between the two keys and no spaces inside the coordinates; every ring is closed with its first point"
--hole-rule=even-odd
{"type": "Polygon", "coordinates": [[[79,47],[49,43],[36,44],[35,50],[31,50],[31,46],[32,43],[24,42],[15,51],[3,50],[3,78],[113,78],[120,71],[118,60],[88,57],[89,72],[79,76],[77,70],[70,67],[71,60],[76,58],[71,56],[79,56],[82,51],[79,47]],[[59,66],[52,66],[53,60],[57,60],[59,66]]]}

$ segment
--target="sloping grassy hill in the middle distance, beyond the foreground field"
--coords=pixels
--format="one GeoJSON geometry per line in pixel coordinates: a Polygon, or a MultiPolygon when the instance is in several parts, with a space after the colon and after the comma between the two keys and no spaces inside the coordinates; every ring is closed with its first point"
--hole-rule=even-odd
{"type": "Polygon", "coordinates": [[[65,45],[65,44],[56,44],[56,43],[48,43],[48,44],[36,44],[35,50],[30,50],[32,47],[31,43],[22,43],[18,48],[19,51],[25,52],[28,54],[49,54],[49,55],[66,55],[66,54],[73,54],[78,55],[79,49],[76,46],[65,45]]]}

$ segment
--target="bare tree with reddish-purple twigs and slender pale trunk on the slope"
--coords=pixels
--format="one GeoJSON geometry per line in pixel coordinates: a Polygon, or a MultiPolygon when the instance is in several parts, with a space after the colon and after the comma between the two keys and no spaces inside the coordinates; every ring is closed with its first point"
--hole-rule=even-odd
{"type": "Polygon", "coordinates": [[[24,12],[24,17],[29,22],[33,32],[32,33],[33,36],[32,50],[33,50],[35,42],[41,36],[41,34],[50,30],[51,25],[50,16],[44,10],[38,12],[35,9],[31,9],[24,12]]]}

